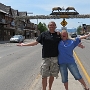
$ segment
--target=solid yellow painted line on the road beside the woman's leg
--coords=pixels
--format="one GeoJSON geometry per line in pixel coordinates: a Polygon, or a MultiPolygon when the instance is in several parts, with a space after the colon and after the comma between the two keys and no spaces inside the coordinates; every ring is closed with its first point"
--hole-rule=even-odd
{"type": "Polygon", "coordinates": [[[88,73],[86,72],[84,66],[83,66],[82,63],[80,62],[80,59],[78,58],[78,56],[76,55],[75,52],[74,52],[74,56],[75,56],[75,58],[76,58],[78,64],[80,65],[80,67],[81,67],[81,69],[82,69],[82,71],[83,71],[83,73],[84,73],[84,75],[85,75],[85,77],[86,77],[88,83],[90,84],[90,77],[89,77],[88,73]]]}

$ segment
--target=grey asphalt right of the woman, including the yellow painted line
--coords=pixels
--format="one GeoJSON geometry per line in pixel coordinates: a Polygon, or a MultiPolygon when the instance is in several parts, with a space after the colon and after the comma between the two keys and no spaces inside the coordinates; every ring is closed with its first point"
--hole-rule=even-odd
{"type": "Polygon", "coordinates": [[[90,86],[90,40],[84,39],[82,44],[85,46],[84,49],[77,47],[74,51],[81,64],[78,63],[79,70],[85,82],[90,86]]]}

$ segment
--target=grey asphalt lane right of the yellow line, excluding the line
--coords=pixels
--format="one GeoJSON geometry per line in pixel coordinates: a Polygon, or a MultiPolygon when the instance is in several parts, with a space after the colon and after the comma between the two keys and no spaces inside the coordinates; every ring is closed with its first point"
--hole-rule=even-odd
{"type": "Polygon", "coordinates": [[[82,40],[82,44],[85,48],[81,49],[77,47],[75,48],[75,52],[90,76],[90,40],[84,39],[82,40]]]}

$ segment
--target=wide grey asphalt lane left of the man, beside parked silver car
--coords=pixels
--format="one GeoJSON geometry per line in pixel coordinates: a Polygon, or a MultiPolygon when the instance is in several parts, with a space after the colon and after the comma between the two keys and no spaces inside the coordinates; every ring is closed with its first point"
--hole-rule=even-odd
{"type": "Polygon", "coordinates": [[[28,90],[39,74],[41,45],[0,44],[0,90],[28,90]]]}

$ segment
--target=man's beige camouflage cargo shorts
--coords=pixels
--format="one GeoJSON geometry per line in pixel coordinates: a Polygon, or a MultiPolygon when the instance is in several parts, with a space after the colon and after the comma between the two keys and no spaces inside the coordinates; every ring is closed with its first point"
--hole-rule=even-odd
{"type": "Polygon", "coordinates": [[[40,71],[42,77],[58,77],[59,65],[57,57],[43,58],[40,71]]]}

